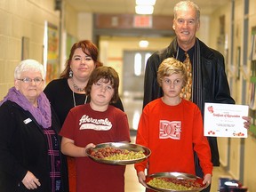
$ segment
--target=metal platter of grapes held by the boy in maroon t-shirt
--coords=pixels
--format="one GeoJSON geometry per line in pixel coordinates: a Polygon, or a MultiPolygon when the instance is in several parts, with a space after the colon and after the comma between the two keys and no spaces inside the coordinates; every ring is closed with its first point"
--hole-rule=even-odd
{"type": "Polygon", "coordinates": [[[87,156],[102,164],[136,164],[148,156],[149,148],[126,142],[108,142],[96,145],[95,148],[85,150],[87,156]]]}

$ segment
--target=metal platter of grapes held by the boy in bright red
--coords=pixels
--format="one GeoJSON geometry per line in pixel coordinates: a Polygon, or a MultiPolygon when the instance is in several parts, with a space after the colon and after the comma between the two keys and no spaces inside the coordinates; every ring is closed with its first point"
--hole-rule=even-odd
{"type": "Polygon", "coordinates": [[[207,188],[203,179],[183,172],[157,172],[146,177],[147,188],[160,192],[197,192],[207,188]]]}

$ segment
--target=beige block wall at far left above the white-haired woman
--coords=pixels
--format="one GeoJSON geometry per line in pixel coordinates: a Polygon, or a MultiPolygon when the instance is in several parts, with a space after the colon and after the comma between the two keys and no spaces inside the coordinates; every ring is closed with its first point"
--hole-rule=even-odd
{"type": "Polygon", "coordinates": [[[0,98],[13,85],[13,71],[21,60],[21,39],[29,39],[28,57],[43,62],[44,21],[59,26],[54,0],[2,0],[0,3],[0,98]]]}

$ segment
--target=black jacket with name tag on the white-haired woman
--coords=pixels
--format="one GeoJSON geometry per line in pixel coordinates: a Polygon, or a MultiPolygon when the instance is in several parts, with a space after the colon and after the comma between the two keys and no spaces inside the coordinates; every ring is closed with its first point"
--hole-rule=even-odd
{"type": "MultiPolygon", "coordinates": [[[[21,182],[28,171],[41,183],[41,187],[33,191],[52,191],[48,144],[41,126],[28,111],[10,100],[0,107],[0,124],[0,191],[30,191],[21,182]],[[25,123],[28,118],[32,121],[25,123]]],[[[52,128],[57,134],[60,132],[60,123],[53,110],[52,128]]],[[[60,156],[62,183],[68,183],[67,160],[60,156]]]]}

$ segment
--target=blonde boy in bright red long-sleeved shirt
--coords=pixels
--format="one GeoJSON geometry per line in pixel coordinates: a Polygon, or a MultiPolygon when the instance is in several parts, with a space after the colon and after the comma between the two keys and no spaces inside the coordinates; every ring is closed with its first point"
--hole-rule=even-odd
{"type": "Polygon", "coordinates": [[[136,143],[151,149],[151,156],[135,164],[138,179],[146,187],[145,169],[156,172],[196,174],[194,151],[204,172],[204,182],[211,183],[211,149],[204,137],[200,109],[180,97],[187,84],[187,69],[174,58],[165,59],[158,68],[157,82],[164,96],[148,103],[140,116],[136,143]]]}

